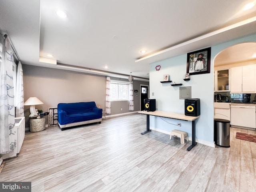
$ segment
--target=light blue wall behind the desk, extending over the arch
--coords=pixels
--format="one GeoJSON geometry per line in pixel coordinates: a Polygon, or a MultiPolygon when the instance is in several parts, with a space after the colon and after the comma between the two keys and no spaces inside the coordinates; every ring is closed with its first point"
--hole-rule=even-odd
{"type": "MultiPolygon", "coordinates": [[[[196,120],[196,138],[202,143],[213,143],[214,140],[214,58],[223,49],[234,44],[242,42],[255,42],[256,34],[243,38],[234,39],[222,44],[211,47],[211,66],[210,73],[198,74],[190,76],[190,81],[184,81],[186,73],[187,54],[168,58],[159,62],[154,62],[150,67],[150,98],[156,99],[156,110],[177,112],[184,114],[184,100],[179,99],[179,87],[170,86],[171,83],[160,83],[163,76],[169,74],[169,80],[172,83],[182,83],[182,86],[192,87],[192,98],[200,98],[201,115],[196,120]],[[156,66],[160,65],[160,70],[156,70],[156,66]],[[154,96],[152,96],[154,92],[154,96]]],[[[206,47],[203,47],[206,48],[206,47]]],[[[201,49],[203,49],[201,48],[201,49]]],[[[198,49],[199,50],[199,49],[198,49]]],[[[192,50],[194,51],[194,50],[192,50]]],[[[191,52],[192,52],[191,51],[191,52]]],[[[150,116],[150,127],[160,129],[164,132],[170,132],[173,129],[183,130],[192,136],[191,122],[175,120],[170,118],[160,118],[150,116]],[[176,123],[181,123],[181,127],[176,123]],[[175,125],[173,125],[175,124],[175,125]]]]}

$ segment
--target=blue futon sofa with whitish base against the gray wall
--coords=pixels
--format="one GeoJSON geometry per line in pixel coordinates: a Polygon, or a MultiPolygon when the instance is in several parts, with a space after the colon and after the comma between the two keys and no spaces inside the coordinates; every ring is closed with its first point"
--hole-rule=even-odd
{"type": "Polygon", "coordinates": [[[102,121],[102,109],[94,101],[58,104],[58,124],[61,130],[102,121]]]}

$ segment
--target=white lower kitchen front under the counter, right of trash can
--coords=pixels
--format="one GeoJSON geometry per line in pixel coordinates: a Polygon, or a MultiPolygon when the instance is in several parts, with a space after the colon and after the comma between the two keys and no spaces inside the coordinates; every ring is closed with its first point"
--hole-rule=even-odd
{"type": "Polygon", "coordinates": [[[256,129],[256,106],[251,104],[232,104],[231,126],[245,128],[250,130],[256,129]]]}

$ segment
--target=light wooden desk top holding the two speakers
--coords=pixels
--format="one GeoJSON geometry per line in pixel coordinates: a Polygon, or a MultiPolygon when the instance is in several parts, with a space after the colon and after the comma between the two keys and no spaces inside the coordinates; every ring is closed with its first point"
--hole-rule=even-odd
{"type": "Polygon", "coordinates": [[[153,115],[153,116],[159,116],[159,117],[167,117],[167,118],[173,118],[173,119],[180,119],[185,121],[194,121],[198,117],[194,116],[186,116],[181,113],[173,113],[173,112],[167,112],[167,111],[139,111],[138,113],[146,114],[146,115],[153,115]]]}

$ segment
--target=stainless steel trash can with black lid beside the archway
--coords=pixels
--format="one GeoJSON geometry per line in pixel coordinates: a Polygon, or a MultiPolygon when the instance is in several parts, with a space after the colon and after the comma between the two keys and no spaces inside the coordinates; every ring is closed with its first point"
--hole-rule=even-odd
{"type": "Polygon", "coordinates": [[[221,147],[230,147],[230,121],[214,119],[214,141],[221,147]]]}

